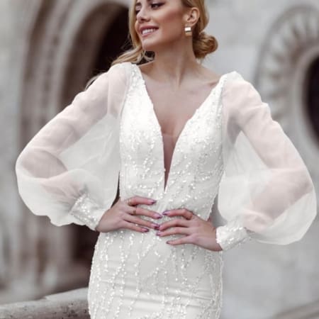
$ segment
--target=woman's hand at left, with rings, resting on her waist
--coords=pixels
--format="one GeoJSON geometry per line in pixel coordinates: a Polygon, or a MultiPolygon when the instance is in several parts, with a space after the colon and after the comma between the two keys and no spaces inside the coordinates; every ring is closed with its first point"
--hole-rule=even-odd
{"type": "Polygon", "coordinates": [[[147,232],[149,228],[157,230],[159,228],[157,223],[152,223],[138,216],[148,216],[155,219],[163,216],[155,211],[136,207],[138,204],[152,205],[154,203],[155,200],[140,196],[134,196],[125,201],[118,198],[118,201],[103,214],[95,229],[100,233],[108,233],[119,228],[135,230],[140,233],[147,232]]]}

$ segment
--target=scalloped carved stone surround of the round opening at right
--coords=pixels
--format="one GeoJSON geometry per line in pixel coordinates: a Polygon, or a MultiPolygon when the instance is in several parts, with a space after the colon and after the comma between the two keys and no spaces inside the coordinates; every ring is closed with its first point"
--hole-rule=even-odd
{"type": "MultiPolygon", "coordinates": [[[[319,11],[293,6],[274,21],[260,48],[254,83],[296,145],[319,191],[318,136],[308,112],[310,68],[319,57],[319,11]]],[[[318,86],[318,84],[317,84],[318,86]]],[[[318,91],[318,89],[317,89],[318,91]]],[[[275,147],[275,145],[274,145],[275,147]]]]}

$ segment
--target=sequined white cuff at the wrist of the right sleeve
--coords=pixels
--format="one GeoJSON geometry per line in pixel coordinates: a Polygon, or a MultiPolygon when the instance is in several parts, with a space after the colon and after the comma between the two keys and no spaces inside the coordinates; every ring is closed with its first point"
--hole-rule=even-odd
{"type": "Polygon", "coordinates": [[[216,242],[223,250],[230,250],[250,239],[249,231],[241,225],[238,219],[216,228],[216,242]]]}

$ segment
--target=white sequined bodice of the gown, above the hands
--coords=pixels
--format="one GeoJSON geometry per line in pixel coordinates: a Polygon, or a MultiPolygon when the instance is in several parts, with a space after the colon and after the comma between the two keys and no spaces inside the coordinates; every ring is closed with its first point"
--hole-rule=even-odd
{"type": "Polygon", "coordinates": [[[164,147],[144,79],[133,65],[121,118],[120,192],[122,198],[157,199],[157,209],[187,208],[207,219],[223,174],[220,91],[227,74],[184,125],[177,139],[164,187],[164,147]]]}

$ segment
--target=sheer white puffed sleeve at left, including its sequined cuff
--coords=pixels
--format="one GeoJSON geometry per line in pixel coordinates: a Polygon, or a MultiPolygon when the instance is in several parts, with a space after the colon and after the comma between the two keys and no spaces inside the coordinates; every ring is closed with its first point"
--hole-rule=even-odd
{"type": "Polygon", "coordinates": [[[95,230],[116,198],[118,125],[128,82],[127,64],[100,74],[18,156],[18,191],[35,215],[95,230]]]}

